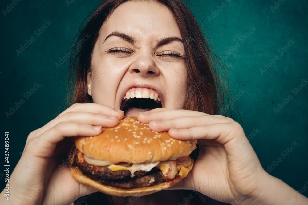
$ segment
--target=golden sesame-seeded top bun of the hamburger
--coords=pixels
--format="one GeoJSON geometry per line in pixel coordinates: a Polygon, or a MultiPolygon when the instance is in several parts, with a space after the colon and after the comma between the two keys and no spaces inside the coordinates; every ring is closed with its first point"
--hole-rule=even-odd
{"type": "Polygon", "coordinates": [[[113,164],[175,160],[188,156],[197,140],[176,140],[168,132],[154,132],[136,116],[125,116],[114,128],[94,137],[75,137],[75,145],[88,157],[113,164]]]}

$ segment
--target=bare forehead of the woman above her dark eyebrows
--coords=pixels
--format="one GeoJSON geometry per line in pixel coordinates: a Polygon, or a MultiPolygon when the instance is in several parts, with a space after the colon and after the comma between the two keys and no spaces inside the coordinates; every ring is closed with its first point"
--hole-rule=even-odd
{"type": "Polygon", "coordinates": [[[181,38],[180,29],[167,6],[154,1],[128,1],[117,7],[104,22],[100,36],[106,38],[119,31],[139,39],[181,38]]]}

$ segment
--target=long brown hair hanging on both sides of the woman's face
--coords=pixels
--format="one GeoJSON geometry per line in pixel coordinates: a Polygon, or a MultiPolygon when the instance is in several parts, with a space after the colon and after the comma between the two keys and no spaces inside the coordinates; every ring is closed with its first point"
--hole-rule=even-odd
{"type": "MultiPolygon", "coordinates": [[[[81,26],[79,36],[71,50],[69,70],[69,92],[67,99],[74,103],[93,102],[87,94],[87,73],[90,70],[91,54],[95,42],[99,36],[99,30],[108,16],[122,3],[129,0],[105,0],[88,17],[85,25],[81,26]],[[85,38],[87,36],[87,38],[85,38]]],[[[181,0],[154,0],[168,6],[174,15],[180,28],[185,49],[185,61],[188,72],[188,89],[183,101],[183,109],[204,112],[208,114],[221,114],[220,103],[223,102],[222,84],[218,72],[215,69],[216,58],[210,49],[205,35],[188,7],[181,0]]],[[[224,104],[222,104],[224,107],[224,104]]],[[[71,164],[73,162],[71,149],[71,164]]],[[[182,190],[184,197],[191,193],[191,190],[182,190]]],[[[92,195],[99,196],[100,202],[112,203],[108,195],[97,192],[92,195]],[[103,201],[102,201],[103,200],[103,201]]],[[[80,198],[81,199],[81,198],[80,198]]],[[[99,202],[92,197],[88,198],[87,204],[99,202]],[[90,202],[91,201],[91,202],[90,202]]],[[[80,200],[75,201],[80,203],[80,200]]],[[[82,204],[82,203],[81,203],[82,204]]],[[[198,193],[188,204],[225,204],[211,200],[209,197],[198,193]]]]}

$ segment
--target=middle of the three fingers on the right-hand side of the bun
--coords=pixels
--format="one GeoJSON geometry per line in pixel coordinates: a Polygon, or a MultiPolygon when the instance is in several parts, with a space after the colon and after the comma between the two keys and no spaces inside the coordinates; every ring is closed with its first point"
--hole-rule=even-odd
{"type": "Polygon", "coordinates": [[[156,132],[167,132],[171,128],[183,129],[198,126],[205,126],[217,123],[232,122],[231,118],[221,118],[215,115],[179,117],[171,120],[155,120],[149,122],[149,128],[156,132]]]}

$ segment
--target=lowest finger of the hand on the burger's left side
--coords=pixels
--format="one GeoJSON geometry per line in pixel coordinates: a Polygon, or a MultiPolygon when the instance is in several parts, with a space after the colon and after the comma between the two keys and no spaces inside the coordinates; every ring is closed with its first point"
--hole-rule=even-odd
{"type": "Polygon", "coordinates": [[[50,157],[58,142],[65,137],[74,136],[96,136],[102,133],[101,126],[93,126],[83,123],[60,122],[53,128],[42,133],[41,136],[34,138],[34,146],[27,153],[41,158],[50,157]]]}

